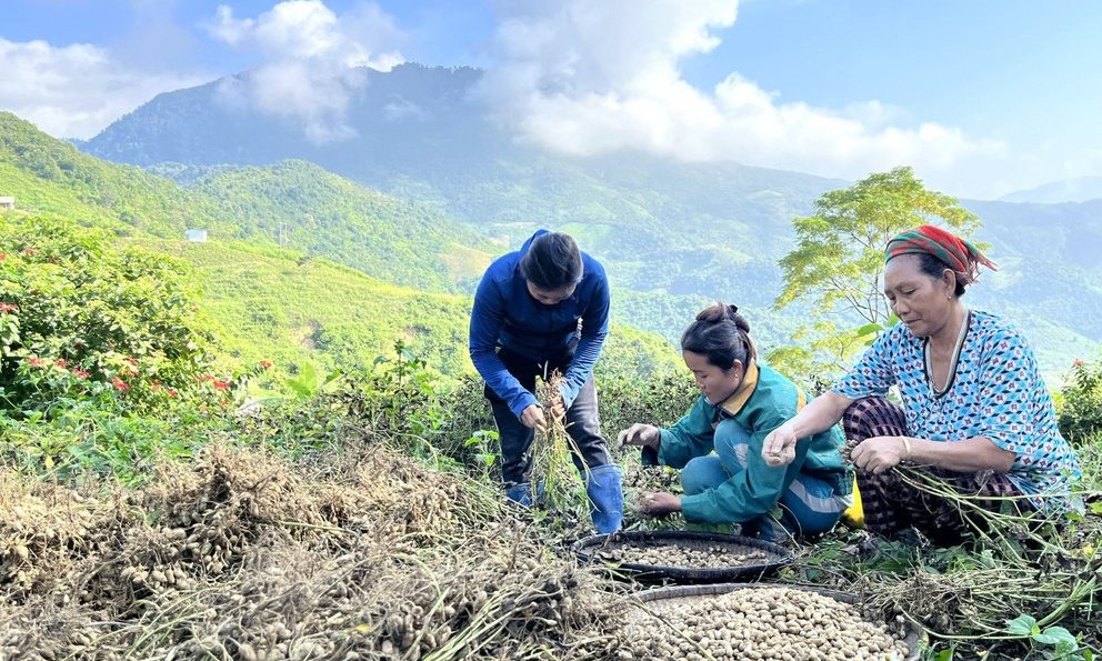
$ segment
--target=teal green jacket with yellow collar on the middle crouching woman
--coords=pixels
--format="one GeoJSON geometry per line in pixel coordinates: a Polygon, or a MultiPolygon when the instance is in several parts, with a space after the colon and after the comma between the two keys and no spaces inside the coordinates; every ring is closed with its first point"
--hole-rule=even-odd
{"type": "Polygon", "coordinates": [[[662,430],[662,442],[655,453],[643,452],[643,463],[662,463],[684,468],[690,459],[709,454],[714,449],[715,427],[733,420],[750,435],[747,469],[715,489],[681,498],[685,519],[707,523],[732,523],[754,519],[777,507],[781,495],[800,473],[825,481],[838,495],[853,491],[853,474],[842,461],[844,444],[836,427],[803,439],[797,444],[795,461],[771,467],[761,457],[769,432],[795,415],[807,398],[787,377],[769,365],[750,363],[747,375],[727,401],[709,403],[703,395],[677,424],[662,430]]]}

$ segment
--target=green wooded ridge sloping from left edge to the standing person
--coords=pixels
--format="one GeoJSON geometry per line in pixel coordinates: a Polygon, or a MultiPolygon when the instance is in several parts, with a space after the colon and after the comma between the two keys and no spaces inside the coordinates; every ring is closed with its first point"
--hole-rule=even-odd
{"type": "Polygon", "coordinates": [[[470,289],[497,250],[433,207],[363,189],[310,163],[222,168],[197,177],[200,183],[183,188],[81,153],[0,112],[0,196],[119,236],[182,239],[186,229],[204,228],[214,240],[324,256],[432,291],[470,289]]]}

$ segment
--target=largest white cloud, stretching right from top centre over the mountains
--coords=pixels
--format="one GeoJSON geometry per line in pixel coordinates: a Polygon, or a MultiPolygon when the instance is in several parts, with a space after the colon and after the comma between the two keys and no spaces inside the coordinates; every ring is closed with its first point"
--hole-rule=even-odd
{"type": "Polygon", "coordinates": [[[893,126],[904,113],[876,101],[841,110],[783,102],[735,72],[712,90],[693,88],[680,66],[719,43],[737,8],[737,0],[502,1],[497,63],[481,91],[520,140],[577,156],[634,148],[850,178],[908,163],[956,182],[963,163],[1005,157],[1004,144],[952,127],[893,126]]]}

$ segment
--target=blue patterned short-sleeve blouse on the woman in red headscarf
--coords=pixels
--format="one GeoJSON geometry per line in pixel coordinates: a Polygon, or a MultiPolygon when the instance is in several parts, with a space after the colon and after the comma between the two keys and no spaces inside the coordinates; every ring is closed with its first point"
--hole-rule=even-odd
{"type": "MultiPolygon", "coordinates": [[[[1060,435],[1033,351],[1013,326],[994,314],[971,311],[955,374],[941,395],[926,378],[924,349],[925,340],[899,323],[873,343],[834,392],[856,400],[883,397],[898,385],[911,435],[950,442],[991,439],[1016,455],[1008,477],[1022,493],[1071,489],[1081,475],[1079,459],[1060,435]]],[[[1033,501],[1042,509],[1063,509],[1073,502],[1033,501]]]]}

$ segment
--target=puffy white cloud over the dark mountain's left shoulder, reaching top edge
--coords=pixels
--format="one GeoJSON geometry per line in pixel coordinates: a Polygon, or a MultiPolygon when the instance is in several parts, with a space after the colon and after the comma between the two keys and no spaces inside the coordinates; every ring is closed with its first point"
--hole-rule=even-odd
{"type": "Polygon", "coordinates": [[[318,143],[354,134],[347,116],[367,84],[364,67],[389,71],[403,61],[387,50],[401,31],[373,4],[338,17],[321,0],[287,0],[244,19],[221,6],[208,31],[264,60],[244,77],[224,80],[221,99],[300,121],[318,143]]]}

